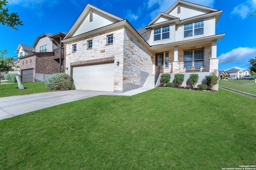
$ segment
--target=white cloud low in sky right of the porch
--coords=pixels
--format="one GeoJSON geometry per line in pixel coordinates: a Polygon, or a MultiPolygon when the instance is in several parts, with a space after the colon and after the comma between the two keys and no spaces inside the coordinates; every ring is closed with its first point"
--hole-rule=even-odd
{"type": "Polygon", "coordinates": [[[220,55],[219,63],[220,64],[249,64],[248,60],[256,56],[256,47],[238,47],[237,49],[232,49],[232,51],[220,55]]]}

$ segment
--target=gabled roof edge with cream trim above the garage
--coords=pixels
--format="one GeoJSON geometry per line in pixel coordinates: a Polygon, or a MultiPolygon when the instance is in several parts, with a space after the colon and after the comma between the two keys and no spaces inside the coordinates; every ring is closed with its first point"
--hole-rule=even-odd
{"type": "Polygon", "coordinates": [[[101,10],[100,8],[97,8],[96,6],[93,6],[91,4],[87,4],[86,7],[84,8],[84,10],[81,12],[80,16],[77,18],[75,23],[72,25],[72,27],[70,28],[70,30],[68,31],[68,33],[64,37],[64,39],[70,38],[70,37],[72,37],[74,35],[74,33],[80,27],[80,25],[82,24],[82,22],[84,21],[86,16],[90,13],[90,11],[94,11],[94,12],[97,11],[97,12],[99,12],[101,14],[104,14],[108,18],[112,18],[113,20],[116,20],[116,22],[124,20],[123,18],[120,18],[118,16],[110,14],[109,12],[101,10]]]}

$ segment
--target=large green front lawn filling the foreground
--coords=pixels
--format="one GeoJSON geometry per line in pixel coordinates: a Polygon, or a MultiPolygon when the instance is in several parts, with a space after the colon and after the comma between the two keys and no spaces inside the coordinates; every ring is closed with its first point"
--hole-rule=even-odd
{"type": "Polygon", "coordinates": [[[154,88],[34,111],[0,121],[0,169],[218,170],[253,165],[255,103],[222,89],[154,88]]]}

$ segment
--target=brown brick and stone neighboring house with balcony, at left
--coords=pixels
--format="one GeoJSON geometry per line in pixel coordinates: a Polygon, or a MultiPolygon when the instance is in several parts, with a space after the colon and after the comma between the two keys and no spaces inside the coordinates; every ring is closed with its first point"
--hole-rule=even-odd
{"type": "Polygon", "coordinates": [[[33,47],[19,44],[22,82],[43,81],[46,76],[64,69],[65,46],[61,42],[66,33],[45,33],[36,38],[33,47]]]}

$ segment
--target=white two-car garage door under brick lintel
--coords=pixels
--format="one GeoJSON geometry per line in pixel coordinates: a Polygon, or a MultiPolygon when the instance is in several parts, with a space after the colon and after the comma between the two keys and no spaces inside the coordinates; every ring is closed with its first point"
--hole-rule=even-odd
{"type": "Polygon", "coordinates": [[[114,63],[73,67],[77,90],[114,91],[114,63]]]}

